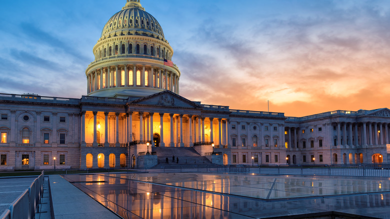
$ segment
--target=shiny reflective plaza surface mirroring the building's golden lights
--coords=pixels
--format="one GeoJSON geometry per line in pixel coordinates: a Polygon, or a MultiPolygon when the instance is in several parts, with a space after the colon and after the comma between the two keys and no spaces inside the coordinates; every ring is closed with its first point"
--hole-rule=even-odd
{"type": "Polygon", "coordinates": [[[264,218],[323,211],[390,218],[388,178],[233,173],[63,177],[123,218],[264,218]]]}

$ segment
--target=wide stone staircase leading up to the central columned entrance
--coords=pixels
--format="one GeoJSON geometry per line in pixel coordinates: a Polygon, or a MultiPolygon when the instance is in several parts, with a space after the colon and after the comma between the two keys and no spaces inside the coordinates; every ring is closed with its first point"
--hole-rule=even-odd
{"type": "Polygon", "coordinates": [[[152,147],[152,152],[156,152],[158,164],[153,168],[162,168],[167,166],[198,166],[202,164],[210,164],[205,156],[201,156],[192,147],[152,147]],[[172,162],[172,156],[174,155],[174,162],[172,162]],[[165,163],[165,159],[168,157],[168,163],[165,163]],[[176,157],[178,157],[178,163],[176,163],[176,157]]]}

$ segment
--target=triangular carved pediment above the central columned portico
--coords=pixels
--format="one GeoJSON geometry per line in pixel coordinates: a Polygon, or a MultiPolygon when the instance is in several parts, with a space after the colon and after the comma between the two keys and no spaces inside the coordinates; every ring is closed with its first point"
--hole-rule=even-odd
{"type": "Polygon", "coordinates": [[[129,102],[129,104],[153,105],[163,107],[183,107],[183,108],[200,108],[201,105],[194,103],[180,95],[169,90],[164,90],[150,96],[129,102]]]}

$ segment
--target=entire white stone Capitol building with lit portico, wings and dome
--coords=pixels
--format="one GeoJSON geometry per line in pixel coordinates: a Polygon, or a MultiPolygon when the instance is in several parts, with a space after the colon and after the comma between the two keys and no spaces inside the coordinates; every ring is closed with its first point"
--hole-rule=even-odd
{"type": "Polygon", "coordinates": [[[107,21],[92,51],[81,98],[0,94],[0,170],[48,169],[54,162],[151,167],[165,162],[172,147],[216,164],[388,162],[387,108],[286,117],[180,96],[173,49],[139,0],[127,0],[107,21]]]}

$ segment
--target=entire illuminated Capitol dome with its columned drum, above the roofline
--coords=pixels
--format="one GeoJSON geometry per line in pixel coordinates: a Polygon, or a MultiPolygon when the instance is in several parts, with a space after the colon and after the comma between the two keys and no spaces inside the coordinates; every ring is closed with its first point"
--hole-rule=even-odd
{"type": "Polygon", "coordinates": [[[179,93],[180,71],[161,25],[141,6],[126,0],[105,23],[85,70],[87,95],[143,97],[163,90],[179,93]]]}

